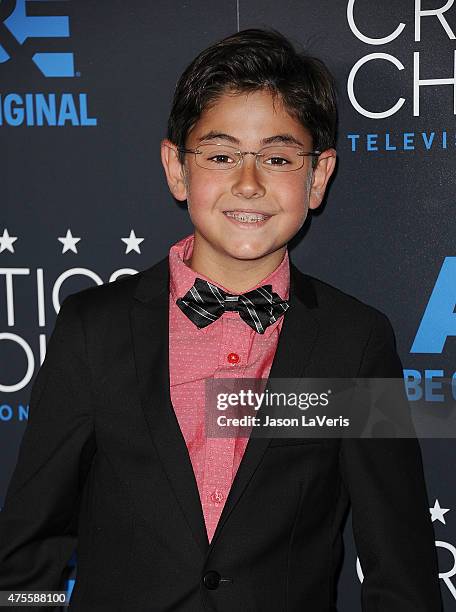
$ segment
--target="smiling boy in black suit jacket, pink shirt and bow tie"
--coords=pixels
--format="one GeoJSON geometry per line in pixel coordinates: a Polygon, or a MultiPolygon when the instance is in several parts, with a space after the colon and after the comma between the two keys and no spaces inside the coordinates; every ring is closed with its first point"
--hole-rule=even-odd
{"type": "Polygon", "coordinates": [[[194,233],[64,301],[1,515],[0,589],[57,589],[77,540],[75,611],[330,612],[351,502],[363,610],[441,609],[416,440],[204,436],[207,379],[402,376],[385,315],[289,261],[335,126],[327,69],[278,32],[186,69],[161,151],[194,233]]]}

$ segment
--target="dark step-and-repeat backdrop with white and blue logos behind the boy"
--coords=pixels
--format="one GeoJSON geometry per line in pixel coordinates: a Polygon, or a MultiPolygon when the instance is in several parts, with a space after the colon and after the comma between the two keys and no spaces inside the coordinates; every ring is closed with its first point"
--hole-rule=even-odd
{"type": "MultiPolygon", "coordinates": [[[[430,410],[456,380],[454,0],[3,0],[0,505],[64,297],[151,266],[191,233],[159,157],[174,87],[199,51],[248,27],[278,29],[338,84],[336,176],[292,260],[389,316],[430,410]]],[[[456,441],[421,446],[453,610],[456,441]]],[[[339,606],[356,612],[350,521],[344,539],[339,606]]]]}

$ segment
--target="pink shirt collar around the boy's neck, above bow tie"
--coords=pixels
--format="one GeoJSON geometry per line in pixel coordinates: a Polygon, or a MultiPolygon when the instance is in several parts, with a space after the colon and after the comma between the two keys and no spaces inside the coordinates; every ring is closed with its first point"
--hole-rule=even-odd
{"type": "MultiPolygon", "coordinates": [[[[216,283],[204,274],[196,273],[185,263],[185,261],[190,259],[193,253],[194,238],[195,235],[190,234],[189,236],[186,236],[185,238],[182,238],[181,240],[176,242],[169,250],[169,289],[174,304],[176,303],[176,300],[179,297],[184,296],[190,289],[190,287],[193,286],[197,277],[209,281],[216,287],[219,287],[223,291],[230,293],[230,291],[226,287],[223,287],[223,285],[216,283]]],[[[244,291],[244,293],[246,293],[247,291],[252,291],[257,287],[260,287],[261,285],[272,285],[272,290],[275,293],[277,293],[283,300],[288,300],[290,288],[290,262],[288,256],[288,249],[285,250],[283,259],[281,263],[277,266],[277,268],[273,270],[266,278],[263,278],[254,287],[251,287],[250,289],[244,291]]],[[[225,313],[222,316],[226,316],[229,314],[230,313],[225,313]]],[[[279,317],[279,319],[272,325],[269,325],[263,335],[269,336],[269,334],[272,333],[275,327],[280,324],[282,319],[283,316],[279,317]]],[[[199,332],[205,333],[209,330],[210,327],[211,326],[208,325],[207,327],[199,329],[195,326],[195,329],[197,329],[199,332]]],[[[253,330],[252,332],[256,333],[253,330]]]]}

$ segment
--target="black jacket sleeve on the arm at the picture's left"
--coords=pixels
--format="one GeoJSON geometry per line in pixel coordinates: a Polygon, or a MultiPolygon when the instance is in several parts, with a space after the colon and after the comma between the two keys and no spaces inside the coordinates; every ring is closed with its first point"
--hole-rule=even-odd
{"type": "Polygon", "coordinates": [[[34,381],[29,419],[0,512],[0,590],[58,590],[76,544],[95,452],[91,379],[77,294],[65,299],[34,381]]]}

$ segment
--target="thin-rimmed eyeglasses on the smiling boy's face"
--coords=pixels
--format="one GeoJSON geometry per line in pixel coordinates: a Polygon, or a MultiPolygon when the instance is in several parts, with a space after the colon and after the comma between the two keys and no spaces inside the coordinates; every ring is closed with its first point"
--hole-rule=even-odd
{"type": "Polygon", "coordinates": [[[196,165],[206,170],[240,168],[246,155],[254,155],[257,168],[272,172],[291,172],[304,165],[304,157],[318,157],[321,151],[302,151],[292,145],[272,145],[259,151],[240,151],[221,143],[199,145],[196,149],[180,148],[181,153],[194,153],[196,165]]]}

